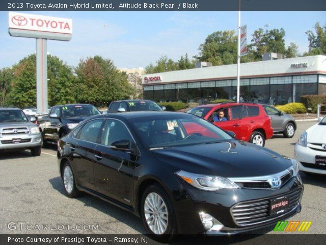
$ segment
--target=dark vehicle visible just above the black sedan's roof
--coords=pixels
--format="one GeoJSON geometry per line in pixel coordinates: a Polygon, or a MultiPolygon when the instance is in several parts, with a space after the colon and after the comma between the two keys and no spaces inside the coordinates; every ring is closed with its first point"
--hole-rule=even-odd
{"type": "Polygon", "coordinates": [[[123,100],[113,101],[107,108],[107,113],[128,112],[128,111],[162,111],[161,108],[153,101],[148,100],[123,100]]]}

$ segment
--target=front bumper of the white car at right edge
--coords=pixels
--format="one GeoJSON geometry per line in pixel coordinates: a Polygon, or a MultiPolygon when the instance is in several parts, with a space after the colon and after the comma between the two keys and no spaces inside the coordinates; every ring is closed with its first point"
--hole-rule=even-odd
{"type": "Polygon", "coordinates": [[[316,165],[316,156],[325,156],[326,151],[313,150],[311,148],[295,144],[294,159],[299,163],[299,169],[302,171],[326,175],[326,169],[318,168],[316,165]]]}

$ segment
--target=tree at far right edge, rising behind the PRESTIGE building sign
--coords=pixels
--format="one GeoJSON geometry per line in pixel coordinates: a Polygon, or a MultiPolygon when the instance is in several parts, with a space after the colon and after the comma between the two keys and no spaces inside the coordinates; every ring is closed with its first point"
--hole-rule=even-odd
{"type": "Polygon", "coordinates": [[[321,27],[320,23],[315,24],[315,32],[307,31],[309,40],[309,52],[305,53],[307,55],[324,55],[326,54],[326,24],[321,27]]]}

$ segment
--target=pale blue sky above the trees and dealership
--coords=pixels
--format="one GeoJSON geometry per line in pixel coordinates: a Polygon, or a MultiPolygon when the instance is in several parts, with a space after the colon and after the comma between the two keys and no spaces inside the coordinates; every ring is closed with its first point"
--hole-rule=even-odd
{"type": "MultiPolygon", "coordinates": [[[[25,12],[71,18],[69,42],[48,40],[51,55],[70,66],[80,59],[100,55],[118,68],[146,67],[161,56],[177,61],[185,53],[199,54],[198,47],[215,32],[237,29],[237,12],[25,12]]],[[[326,12],[241,12],[241,26],[247,24],[248,41],[259,28],[285,30],[285,45],[308,51],[305,32],[315,23],[326,24],[326,12]]],[[[237,33],[236,33],[237,34],[237,33]]],[[[0,68],[10,67],[35,53],[35,39],[8,34],[8,12],[0,12],[0,68]]]]}

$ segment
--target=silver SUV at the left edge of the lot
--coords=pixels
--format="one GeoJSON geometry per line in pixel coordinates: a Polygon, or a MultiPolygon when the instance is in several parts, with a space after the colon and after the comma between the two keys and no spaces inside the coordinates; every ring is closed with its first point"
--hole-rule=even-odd
{"type": "MultiPolygon", "coordinates": [[[[36,118],[32,117],[31,121],[36,118]]],[[[0,151],[31,150],[33,156],[41,154],[42,135],[19,108],[0,108],[0,151]]]]}

